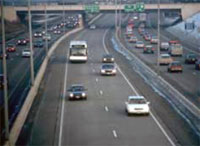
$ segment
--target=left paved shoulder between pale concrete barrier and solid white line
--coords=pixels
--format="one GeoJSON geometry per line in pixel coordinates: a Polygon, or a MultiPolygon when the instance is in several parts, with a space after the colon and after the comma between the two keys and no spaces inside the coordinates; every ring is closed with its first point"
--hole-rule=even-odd
{"type": "Polygon", "coordinates": [[[58,133],[56,130],[60,103],[63,98],[63,77],[67,62],[66,46],[68,45],[68,40],[62,41],[50,57],[43,86],[36,97],[40,99],[40,104],[38,109],[35,109],[37,112],[32,121],[33,127],[29,127],[32,129],[28,141],[29,145],[54,145],[57,141],[58,133]]]}

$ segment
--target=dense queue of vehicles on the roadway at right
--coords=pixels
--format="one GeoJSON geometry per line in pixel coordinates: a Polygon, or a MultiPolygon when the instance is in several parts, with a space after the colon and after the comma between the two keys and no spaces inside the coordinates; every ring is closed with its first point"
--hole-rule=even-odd
{"type": "MultiPolygon", "coordinates": [[[[156,35],[152,35],[147,30],[145,30],[145,24],[141,23],[138,27],[138,33],[144,40],[139,40],[137,36],[133,32],[134,23],[128,23],[126,27],[126,38],[129,43],[134,43],[135,48],[143,49],[144,54],[154,54],[157,46],[154,44],[158,44],[158,38],[156,35]],[[149,44],[145,45],[144,42],[149,42],[149,44]]],[[[168,65],[168,72],[183,72],[182,62],[175,59],[175,57],[185,57],[185,64],[194,64],[194,68],[196,70],[200,70],[200,59],[194,53],[183,54],[183,46],[178,40],[171,40],[169,42],[161,42],[160,43],[160,51],[161,54],[158,58],[158,62],[160,65],[168,65]]]]}

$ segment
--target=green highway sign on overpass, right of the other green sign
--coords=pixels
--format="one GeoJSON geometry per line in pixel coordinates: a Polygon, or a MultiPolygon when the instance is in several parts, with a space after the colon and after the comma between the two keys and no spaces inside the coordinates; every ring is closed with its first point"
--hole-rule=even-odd
{"type": "Polygon", "coordinates": [[[145,10],[144,3],[136,3],[136,4],[129,4],[124,5],[124,11],[129,12],[143,12],[145,10]]]}

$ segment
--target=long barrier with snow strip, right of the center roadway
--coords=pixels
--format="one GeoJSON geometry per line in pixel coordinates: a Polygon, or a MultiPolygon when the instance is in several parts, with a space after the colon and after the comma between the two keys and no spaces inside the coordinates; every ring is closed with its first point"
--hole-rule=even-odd
{"type": "Polygon", "coordinates": [[[112,38],[112,43],[115,46],[114,49],[130,61],[134,71],[136,71],[155,92],[165,98],[178,114],[186,120],[198,137],[200,137],[200,108],[190,102],[164,78],[130,52],[121,43],[120,39],[118,33],[116,33],[115,38],[112,38]]]}

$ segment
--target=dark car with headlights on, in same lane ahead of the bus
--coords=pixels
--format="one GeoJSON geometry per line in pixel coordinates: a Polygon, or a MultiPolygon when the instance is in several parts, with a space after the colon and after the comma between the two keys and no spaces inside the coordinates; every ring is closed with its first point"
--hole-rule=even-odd
{"type": "Polygon", "coordinates": [[[81,84],[74,84],[68,89],[69,100],[87,99],[87,89],[81,84]]]}

